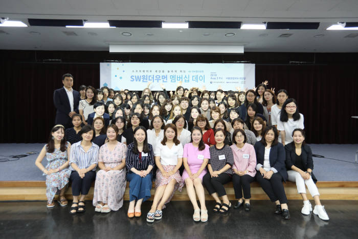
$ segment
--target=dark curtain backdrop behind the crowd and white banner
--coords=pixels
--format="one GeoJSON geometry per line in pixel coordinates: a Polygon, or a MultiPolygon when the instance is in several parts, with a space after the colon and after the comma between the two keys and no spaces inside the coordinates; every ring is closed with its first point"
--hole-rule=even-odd
{"type": "MultiPolygon", "coordinates": [[[[244,55],[112,55],[108,52],[0,51],[1,143],[46,142],[54,125],[53,91],[61,76],[79,85],[99,87],[99,63],[108,59],[131,62],[223,62],[256,64],[256,85],[286,89],[304,115],[308,143],[358,143],[358,54],[245,53],[244,55]],[[289,60],[315,64],[295,66],[289,60]],[[61,59],[60,63],[39,62],[61,59]],[[190,59],[190,60],[189,60],[190,59]]],[[[184,85],[185,86],[185,85],[184,85]]],[[[187,86],[189,88],[189,86],[187,86]]]]}

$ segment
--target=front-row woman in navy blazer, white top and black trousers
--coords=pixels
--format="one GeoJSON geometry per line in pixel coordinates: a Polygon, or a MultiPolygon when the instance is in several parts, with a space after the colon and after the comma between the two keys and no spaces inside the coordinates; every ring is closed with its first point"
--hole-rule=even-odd
{"type": "Polygon", "coordinates": [[[285,150],[278,142],[277,129],[274,126],[266,127],[261,141],[255,144],[256,152],[256,180],[261,185],[271,202],[276,203],[275,214],[282,214],[283,218],[290,219],[287,198],[282,181],[287,180],[285,168],[285,150]]]}

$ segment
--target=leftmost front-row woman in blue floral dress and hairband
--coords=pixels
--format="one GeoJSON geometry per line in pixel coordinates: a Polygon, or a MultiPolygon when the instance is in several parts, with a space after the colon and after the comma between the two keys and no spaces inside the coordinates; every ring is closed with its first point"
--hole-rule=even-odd
{"type": "Polygon", "coordinates": [[[53,199],[60,190],[58,203],[64,207],[68,201],[64,197],[66,185],[69,183],[71,170],[69,169],[69,156],[71,144],[65,141],[64,127],[60,124],[51,129],[49,142],[43,146],[35,165],[46,175],[47,207],[55,206],[53,199]],[[43,167],[42,159],[46,156],[48,164],[43,167]]]}

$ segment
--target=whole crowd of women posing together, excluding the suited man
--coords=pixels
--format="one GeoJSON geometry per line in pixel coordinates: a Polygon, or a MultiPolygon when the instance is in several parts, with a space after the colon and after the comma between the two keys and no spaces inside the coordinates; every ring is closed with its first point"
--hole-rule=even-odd
{"type": "Polygon", "coordinates": [[[70,213],[84,212],[85,197],[95,181],[95,211],[116,211],[123,205],[128,181],[127,215],[140,217],[155,178],[148,222],[162,218],[165,204],[184,184],[193,205],[193,220],[206,222],[204,187],[216,202],[214,212],[227,213],[241,206],[250,211],[250,183],[256,180],[276,204],[274,212],[289,219],[282,184],[288,180],[296,182],[302,195],[301,212],[312,211],[307,185],[316,204],[313,212],[328,220],[312,173],[312,153],[304,143],[303,115],[285,90],[276,96],[266,84],[227,93],[221,89],[186,91],[178,85],[169,94],[161,85],[162,92],[152,95],[146,88],[141,97],[129,91],[114,94],[106,87],[83,88],[74,127],[55,125],[36,160],[47,176],[47,206],[54,207],[56,193],[58,203],[68,205],[64,192],[71,181],[70,213]],[[46,167],[41,164],[45,156],[46,167]],[[225,190],[230,181],[235,205],[225,190]]]}

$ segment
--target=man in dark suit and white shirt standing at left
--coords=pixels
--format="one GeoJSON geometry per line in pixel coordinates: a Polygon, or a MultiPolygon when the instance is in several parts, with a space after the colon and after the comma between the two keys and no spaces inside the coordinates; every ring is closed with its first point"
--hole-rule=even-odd
{"type": "Polygon", "coordinates": [[[65,128],[72,127],[72,116],[78,114],[80,93],[72,89],[73,76],[62,76],[63,88],[54,91],[54,105],[57,108],[55,124],[62,124],[65,128]]]}

